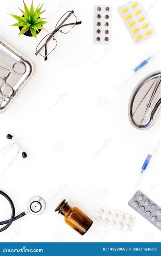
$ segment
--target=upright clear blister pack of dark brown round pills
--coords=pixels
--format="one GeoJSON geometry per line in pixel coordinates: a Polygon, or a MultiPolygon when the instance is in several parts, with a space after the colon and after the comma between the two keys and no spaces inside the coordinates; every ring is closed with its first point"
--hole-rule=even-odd
{"type": "Polygon", "coordinates": [[[93,43],[111,43],[111,6],[95,5],[93,19],[93,43]]]}

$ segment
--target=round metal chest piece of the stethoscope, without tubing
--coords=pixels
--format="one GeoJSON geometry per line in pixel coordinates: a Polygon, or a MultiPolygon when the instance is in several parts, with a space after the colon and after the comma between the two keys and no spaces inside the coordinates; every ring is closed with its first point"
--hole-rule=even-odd
{"type": "Polygon", "coordinates": [[[31,214],[39,215],[46,209],[46,202],[42,197],[34,196],[28,201],[27,207],[31,214]]]}

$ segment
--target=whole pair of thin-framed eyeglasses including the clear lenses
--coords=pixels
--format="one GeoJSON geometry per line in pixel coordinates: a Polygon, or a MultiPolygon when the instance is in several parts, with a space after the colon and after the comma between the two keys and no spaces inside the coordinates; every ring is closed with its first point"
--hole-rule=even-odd
{"type": "Polygon", "coordinates": [[[61,33],[67,34],[75,25],[79,25],[82,22],[77,22],[77,17],[74,15],[74,11],[66,12],[58,21],[55,26],[55,30],[51,34],[47,34],[36,47],[36,55],[40,54],[44,57],[44,60],[47,60],[47,56],[51,54],[55,47],[57,46],[57,41],[54,37],[54,34],[59,31],[61,33]],[[47,49],[48,45],[48,49],[47,49]],[[43,51],[44,54],[43,54],[43,51]],[[40,53],[41,52],[41,53],[40,53]]]}

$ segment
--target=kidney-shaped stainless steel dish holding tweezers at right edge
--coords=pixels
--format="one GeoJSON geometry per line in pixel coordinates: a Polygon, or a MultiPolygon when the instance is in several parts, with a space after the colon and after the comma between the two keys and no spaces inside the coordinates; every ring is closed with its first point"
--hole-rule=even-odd
{"type": "Polygon", "coordinates": [[[132,126],[143,130],[150,128],[161,107],[161,70],[145,76],[133,90],[128,115],[132,126]]]}

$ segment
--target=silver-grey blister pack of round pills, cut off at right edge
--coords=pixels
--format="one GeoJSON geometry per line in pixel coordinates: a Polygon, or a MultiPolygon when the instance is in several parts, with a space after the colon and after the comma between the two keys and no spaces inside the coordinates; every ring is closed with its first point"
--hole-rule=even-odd
{"type": "Polygon", "coordinates": [[[161,207],[143,192],[138,190],[128,205],[161,230],[161,207]]]}

